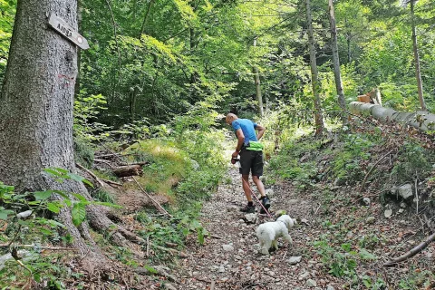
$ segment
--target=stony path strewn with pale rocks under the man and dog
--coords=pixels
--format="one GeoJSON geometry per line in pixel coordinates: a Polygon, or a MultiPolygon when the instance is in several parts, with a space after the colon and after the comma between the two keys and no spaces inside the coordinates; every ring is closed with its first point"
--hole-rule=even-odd
{"type": "Polygon", "coordinates": [[[305,247],[315,235],[309,224],[318,205],[296,197],[291,188],[266,185],[272,212],[284,209],[292,218],[304,222],[290,232],[292,246],[281,240],[279,250],[269,256],[260,255],[255,230],[271,218],[257,215],[255,224],[246,222],[239,211],[246,198],[238,169],[231,168],[228,174],[231,183],[220,186],[201,212],[202,224],[213,237],[208,237],[203,247],[198,247],[194,240],[188,244],[191,256],[181,261],[177,288],[337,289],[331,281],[320,277],[320,265],[310,259],[312,253],[307,250],[310,247],[305,247]]]}

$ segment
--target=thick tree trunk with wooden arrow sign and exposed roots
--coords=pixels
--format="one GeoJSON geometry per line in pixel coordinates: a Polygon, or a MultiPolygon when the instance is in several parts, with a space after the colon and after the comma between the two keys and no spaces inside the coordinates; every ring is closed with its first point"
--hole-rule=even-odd
{"type": "MultiPolygon", "coordinates": [[[[77,77],[77,47],[49,28],[56,14],[77,29],[77,1],[18,1],[5,87],[0,96],[0,180],[17,191],[60,189],[92,200],[81,183],[58,183],[46,168],[75,171],[73,160],[73,95],[77,77]]],[[[56,196],[54,198],[60,198],[56,196]]],[[[125,230],[102,215],[101,207],[87,207],[92,225],[115,229],[114,241],[125,245],[125,230]]],[[[86,224],[73,226],[71,211],[63,208],[63,224],[73,247],[89,252],[86,224]]],[[[134,236],[134,235],[132,235],[134,236]]],[[[92,241],[90,241],[92,244],[92,241]]],[[[98,250],[92,250],[98,255],[98,250]]],[[[90,255],[91,256],[91,255],[90,255]]]]}

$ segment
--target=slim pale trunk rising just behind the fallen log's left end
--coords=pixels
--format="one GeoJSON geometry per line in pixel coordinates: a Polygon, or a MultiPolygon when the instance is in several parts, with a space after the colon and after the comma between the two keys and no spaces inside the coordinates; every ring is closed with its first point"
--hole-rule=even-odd
{"type": "Polygon", "coordinates": [[[338,104],[342,109],[341,119],[343,125],[346,125],[346,101],[344,100],[342,74],[340,73],[340,57],[338,56],[337,27],[335,26],[335,14],[333,13],[333,0],[329,0],[329,21],[331,23],[331,46],[333,47],[333,75],[335,77],[335,88],[338,94],[338,104]]]}

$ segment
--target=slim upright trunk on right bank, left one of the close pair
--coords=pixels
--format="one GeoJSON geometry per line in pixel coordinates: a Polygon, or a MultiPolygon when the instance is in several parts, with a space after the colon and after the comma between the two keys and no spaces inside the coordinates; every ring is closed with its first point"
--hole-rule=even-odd
{"type": "Polygon", "coordinates": [[[324,133],[324,118],[322,116],[322,106],[320,104],[320,85],[318,81],[317,62],[315,59],[314,33],[311,16],[310,0],[305,0],[306,5],[306,24],[308,25],[308,48],[310,51],[311,64],[311,82],[313,84],[314,94],[314,121],[315,121],[315,136],[320,136],[324,133]]]}

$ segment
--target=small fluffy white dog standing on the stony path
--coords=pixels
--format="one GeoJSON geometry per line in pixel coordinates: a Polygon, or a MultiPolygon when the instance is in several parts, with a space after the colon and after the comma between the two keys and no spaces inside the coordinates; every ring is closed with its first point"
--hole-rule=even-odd
{"type": "Polygon", "coordinates": [[[292,237],[288,235],[291,227],[295,226],[295,219],[284,215],[275,222],[267,222],[256,228],[256,237],[260,241],[260,252],[263,255],[269,254],[271,246],[278,249],[278,237],[284,237],[289,244],[292,244],[292,237]]]}

